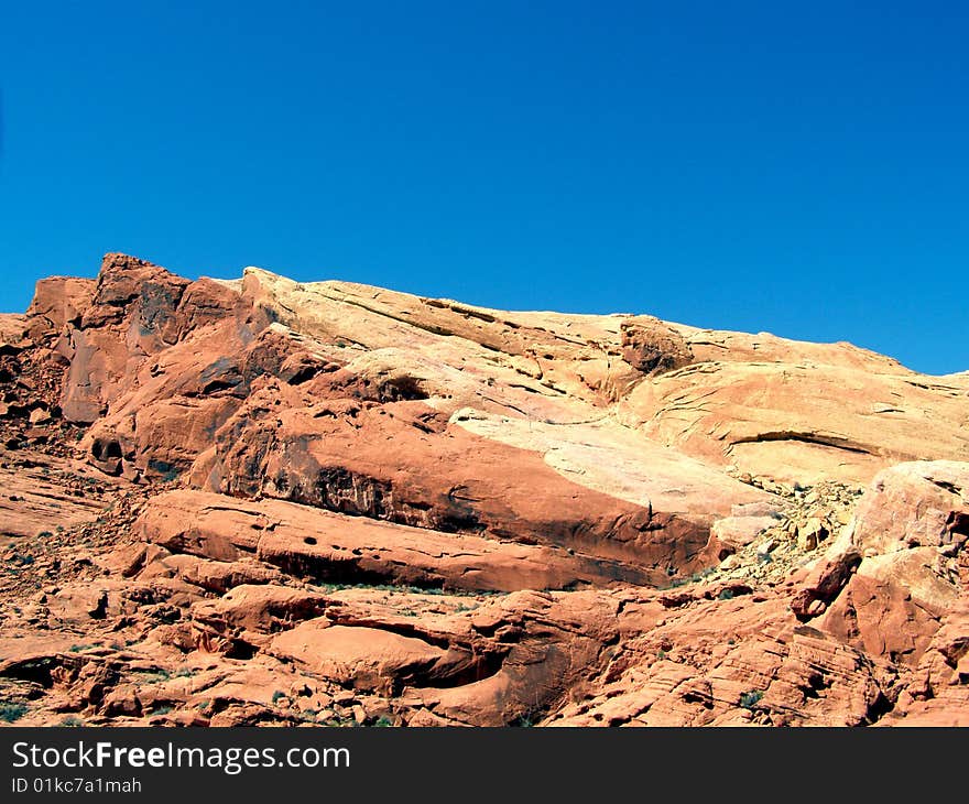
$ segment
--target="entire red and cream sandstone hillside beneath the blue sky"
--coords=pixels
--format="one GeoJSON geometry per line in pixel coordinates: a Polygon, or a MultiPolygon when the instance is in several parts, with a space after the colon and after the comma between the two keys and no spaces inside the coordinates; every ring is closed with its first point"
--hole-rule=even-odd
{"type": "Polygon", "coordinates": [[[108,254],[0,393],[24,722],[969,722],[969,374],[108,254]]]}

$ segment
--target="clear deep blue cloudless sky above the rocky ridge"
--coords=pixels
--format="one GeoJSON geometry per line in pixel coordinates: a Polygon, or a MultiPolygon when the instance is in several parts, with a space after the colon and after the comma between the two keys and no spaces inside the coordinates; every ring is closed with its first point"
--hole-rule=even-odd
{"type": "Polygon", "coordinates": [[[969,3],[3,3],[3,311],[126,251],[969,369],[969,3]]]}

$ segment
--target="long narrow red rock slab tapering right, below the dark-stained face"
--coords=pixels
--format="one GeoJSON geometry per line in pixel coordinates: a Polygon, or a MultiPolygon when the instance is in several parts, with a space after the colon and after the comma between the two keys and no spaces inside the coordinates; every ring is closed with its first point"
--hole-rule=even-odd
{"type": "MultiPolygon", "coordinates": [[[[135,534],[173,553],[215,562],[253,558],[316,583],[404,584],[514,591],[650,585],[656,576],[565,550],[440,533],[290,502],[172,491],[153,498],[135,534]]],[[[665,576],[664,576],[665,577],[665,576]]]]}

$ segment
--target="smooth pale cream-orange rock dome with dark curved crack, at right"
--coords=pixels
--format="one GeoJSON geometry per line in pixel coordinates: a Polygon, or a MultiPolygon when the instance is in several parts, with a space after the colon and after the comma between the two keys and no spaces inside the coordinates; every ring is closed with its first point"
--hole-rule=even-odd
{"type": "Polygon", "coordinates": [[[958,376],[919,377],[848,345],[722,333],[687,343],[694,362],[636,385],[624,421],[734,475],[858,484],[895,463],[969,454],[958,376]]]}

